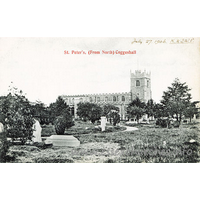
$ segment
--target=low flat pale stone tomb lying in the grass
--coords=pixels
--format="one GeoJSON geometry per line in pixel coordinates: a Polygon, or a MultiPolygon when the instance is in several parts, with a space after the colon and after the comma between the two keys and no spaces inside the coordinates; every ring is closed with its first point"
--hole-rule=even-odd
{"type": "Polygon", "coordinates": [[[77,147],[80,141],[73,135],[51,135],[45,140],[45,144],[53,144],[57,147],[77,147]]]}

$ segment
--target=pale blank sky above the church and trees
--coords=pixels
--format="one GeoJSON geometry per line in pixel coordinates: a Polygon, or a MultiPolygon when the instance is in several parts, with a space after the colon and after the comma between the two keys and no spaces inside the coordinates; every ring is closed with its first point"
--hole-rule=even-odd
{"type": "Polygon", "coordinates": [[[46,105],[59,95],[129,92],[130,71],[135,70],[151,72],[156,102],[175,78],[192,89],[192,100],[200,100],[200,39],[0,38],[0,95],[8,94],[11,82],[31,102],[46,105]],[[100,54],[89,55],[90,50],[100,54]],[[117,50],[136,53],[102,54],[117,50]]]}

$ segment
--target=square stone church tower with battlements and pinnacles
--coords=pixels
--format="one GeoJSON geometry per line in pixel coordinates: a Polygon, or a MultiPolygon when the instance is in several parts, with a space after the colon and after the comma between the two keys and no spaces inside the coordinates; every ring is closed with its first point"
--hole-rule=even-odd
{"type": "Polygon", "coordinates": [[[151,94],[151,73],[136,70],[130,73],[131,78],[131,101],[136,97],[143,102],[152,98],[151,94]]]}

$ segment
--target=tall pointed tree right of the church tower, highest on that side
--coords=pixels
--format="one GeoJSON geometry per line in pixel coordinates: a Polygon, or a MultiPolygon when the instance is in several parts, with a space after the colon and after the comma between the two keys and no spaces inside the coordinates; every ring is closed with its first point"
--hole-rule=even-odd
{"type": "Polygon", "coordinates": [[[171,87],[168,87],[168,90],[162,96],[161,103],[168,113],[168,116],[175,117],[179,124],[185,110],[190,106],[190,90],[186,83],[181,83],[179,79],[175,79],[171,87]]]}

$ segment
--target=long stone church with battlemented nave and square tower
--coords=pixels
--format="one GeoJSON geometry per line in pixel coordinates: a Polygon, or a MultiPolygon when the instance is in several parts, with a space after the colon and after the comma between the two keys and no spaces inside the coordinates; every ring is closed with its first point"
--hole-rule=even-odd
{"type": "Polygon", "coordinates": [[[99,105],[112,104],[119,108],[121,120],[126,119],[126,108],[136,97],[147,102],[152,98],[151,73],[136,70],[130,72],[130,91],[122,93],[62,95],[61,96],[71,109],[71,113],[77,118],[77,104],[79,102],[91,102],[99,105]]]}

